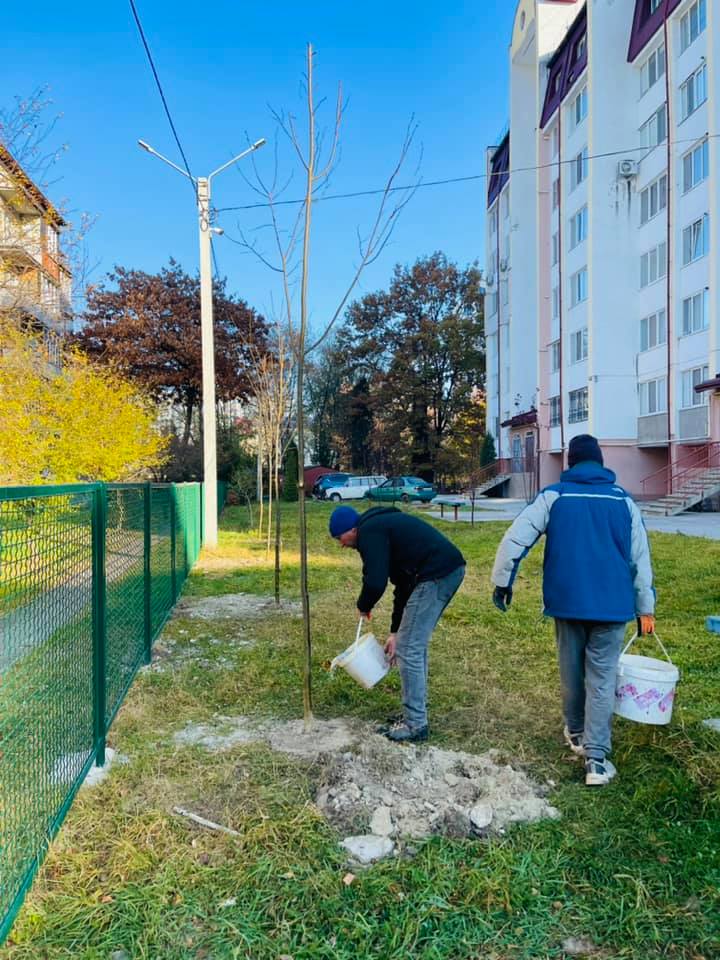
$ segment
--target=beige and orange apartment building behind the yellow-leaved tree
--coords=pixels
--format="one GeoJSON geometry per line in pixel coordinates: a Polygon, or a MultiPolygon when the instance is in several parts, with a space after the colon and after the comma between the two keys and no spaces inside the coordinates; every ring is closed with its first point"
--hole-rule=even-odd
{"type": "Polygon", "coordinates": [[[0,145],[0,312],[29,321],[50,341],[70,317],[71,275],[60,250],[65,221],[0,145]]]}

